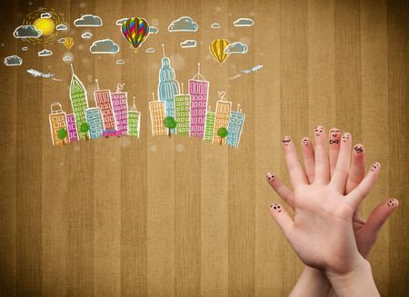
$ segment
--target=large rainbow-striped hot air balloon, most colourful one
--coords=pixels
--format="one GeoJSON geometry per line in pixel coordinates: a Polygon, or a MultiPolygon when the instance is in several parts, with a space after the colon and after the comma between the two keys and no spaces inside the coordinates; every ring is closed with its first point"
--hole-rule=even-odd
{"type": "Polygon", "coordinates": [[[128,18],[122,23],[122,35],[136,49],[149,35],[149,24],[142,17],[128,18]]]}

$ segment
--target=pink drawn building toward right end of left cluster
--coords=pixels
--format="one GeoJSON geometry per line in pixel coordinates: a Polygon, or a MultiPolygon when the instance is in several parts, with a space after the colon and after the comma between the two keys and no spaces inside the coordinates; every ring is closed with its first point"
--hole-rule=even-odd
{"type": "Polygon", "coordinates": [[[128,94],[122,92],[124,84],[116,86],[116,92],[111,93],[111,102],[114,109],[116,131],[125,135],[128,132],[128,94]]]}

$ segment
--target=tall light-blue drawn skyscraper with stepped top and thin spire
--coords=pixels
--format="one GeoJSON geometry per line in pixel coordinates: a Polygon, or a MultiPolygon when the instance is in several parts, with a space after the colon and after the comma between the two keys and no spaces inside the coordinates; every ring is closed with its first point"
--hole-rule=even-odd
{"type": "MultiPolygon", "coordinates": [[[[162,45],[164,57],[159,71],[157,94],[159,101],[165,102],[166,116],[175,118],[175,94],[179,94],[179,83],[175,78],[175,70],[171,67],[169,58],[165,56],[165,45],[162,45]]],[[[171,130],[175,133],[175,129],[171,130]]]]}

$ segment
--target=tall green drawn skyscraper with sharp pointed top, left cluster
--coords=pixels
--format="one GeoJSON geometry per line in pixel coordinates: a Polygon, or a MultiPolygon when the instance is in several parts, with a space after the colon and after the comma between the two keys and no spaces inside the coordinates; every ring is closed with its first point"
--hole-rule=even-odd
{"type": "Polygon", "coordinates": [[[88,108],[88,99],[86,97],[86,89],[84,84],[79,80],[78,76],[74,74],[73,64],[71,64],[73,77],[70,84],[70,100],[75,115],[76,130],[78,132],[78,139],[85,139],[85,133],[80,132],[81,124],[86,123],[85,109],[88,108]]]}

